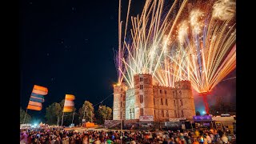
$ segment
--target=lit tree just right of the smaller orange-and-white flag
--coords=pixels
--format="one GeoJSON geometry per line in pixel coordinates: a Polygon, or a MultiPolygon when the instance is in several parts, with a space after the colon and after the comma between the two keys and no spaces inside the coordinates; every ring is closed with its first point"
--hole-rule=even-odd
{"type": "Polygon", "coordinates": [[[94,106],[89,101],[85,101],[82,107],[78,110],[79,120],[86,119],[86,122],[92,122],[94,118],[94,106]]]}

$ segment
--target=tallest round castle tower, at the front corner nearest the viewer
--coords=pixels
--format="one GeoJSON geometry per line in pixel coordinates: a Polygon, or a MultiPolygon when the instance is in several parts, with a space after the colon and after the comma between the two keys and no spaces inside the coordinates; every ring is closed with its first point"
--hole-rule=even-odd
{"type": "Polygon", "coordinates": [[[151,74],[134,75],[134,119],[141,115],[153,115],[154,94],[151,74]]]}

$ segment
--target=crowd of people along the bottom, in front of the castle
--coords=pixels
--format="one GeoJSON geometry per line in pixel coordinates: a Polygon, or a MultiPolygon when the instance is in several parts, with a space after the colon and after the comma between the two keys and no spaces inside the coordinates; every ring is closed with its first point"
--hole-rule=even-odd
{"type": "Polygon", "coordinates": [[[21,129],[20,144],[235,144],[222,130],[64,130],[61,127],[21,129]]]}

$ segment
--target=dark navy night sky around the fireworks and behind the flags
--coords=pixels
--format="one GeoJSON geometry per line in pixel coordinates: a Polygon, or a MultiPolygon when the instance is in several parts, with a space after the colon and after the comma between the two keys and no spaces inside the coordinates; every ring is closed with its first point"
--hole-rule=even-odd
{"type": "MultiPolygon", "coordinates": [[[[142,2],[132,2],[131,14],[140,13],[142,2]]],[[[122,4],[123,9],[127,3],[122,4]]],[[[19,18],[20,106],[26,109],[34,85],[49,90],[42,111],[28,110],[28,114],[43,120],[46,107],[61,102],[65,94],[74,94],[79,109],[85,100],[97,104],[113,93],[118,0],[22,0],[19,18]]],[[[235,71],[229,76],[234,77],[235,71]]],[[[214,91],[210,101],[214,95],[223,95],[234,102],[235,78],[221,82],[214,91]]],[[[195,98],[196,108],[202,109],[202,98],[195,98]]],[[[112,107],[113,96],[103,105],[112,107]]]]}

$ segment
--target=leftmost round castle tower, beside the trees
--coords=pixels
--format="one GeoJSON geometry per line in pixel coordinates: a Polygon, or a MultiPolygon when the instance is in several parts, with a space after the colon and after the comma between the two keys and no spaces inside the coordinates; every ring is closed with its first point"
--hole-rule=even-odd
{"type": "Polygon", "coordinates": [[[126,117],[126,85],[114,85],[113,120],[124,120],[126,117]],[[121,111],[122,106],[122,111],[121,111]]]}

